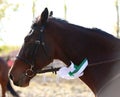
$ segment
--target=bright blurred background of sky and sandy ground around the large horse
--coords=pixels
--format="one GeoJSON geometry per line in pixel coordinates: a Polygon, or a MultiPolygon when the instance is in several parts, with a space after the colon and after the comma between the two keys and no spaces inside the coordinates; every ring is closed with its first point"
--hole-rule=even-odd
{"type": "MultiPolygon", "coordinates": [[[[88,28],[96,27],[119,38],[119,6],[119,0],[0,0],[0,56],[7,61],[9,59],[14,61],[24,37],[30,30],[32,20],[40,15],[45,7],[53,11],[54,17],[88,28]]],[[[11,66],[13,62],[10,60],[8,64],[11,66]]],[[[54,64],[63,64],[57,62],[55,61],[54,64]]],[[[61,80],[53,74],[38,75],[37,78],[31,82],[30,87],[25,88],[26,92],[23,88],[16,87],[21,97],[94,97],[89,88],[78,79],[61,80]],[[36,88],[37,84],[39,88],[36,88]],[[55,87],[51,89],[51,85],[55,87]],[[40,88],[41,86],[43,87],[40,88]],[[57,88],[58,91],[61,89],[60,93],[56,91],[57,88]],[[29,89],[32,92],[37,91],[34,91],[37,96],[29,89]],[[52,90],[49,96],[46,93],[47,89],[52,90]],[[64,95],[59,95],[62,94],[61,91],[64,95]],[[43,96],[40,96],[41,92],[43,96]],[[57,95],[55,92],[58,96],[55,96],[57,95]],[[32,96],[29,95],[30,93],[32,96]],[[87,93],[87,96],[84,93],[87,93]]]]}

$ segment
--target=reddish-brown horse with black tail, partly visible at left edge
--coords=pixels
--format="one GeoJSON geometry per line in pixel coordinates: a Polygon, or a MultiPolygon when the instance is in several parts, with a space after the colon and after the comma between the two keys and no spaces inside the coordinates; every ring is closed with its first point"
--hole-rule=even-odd
{"type": "Polygon", "coordinates": [[[7,62],[2,57],[0,57],[0,84],[2,88],[2,97],[5,97],[5,93],[7,90],[9,90],[14,97],[19,97],[19,95],[15,92],[15,90],[11,86],[8,77],[8,72],[9,68],[7,62]]]}

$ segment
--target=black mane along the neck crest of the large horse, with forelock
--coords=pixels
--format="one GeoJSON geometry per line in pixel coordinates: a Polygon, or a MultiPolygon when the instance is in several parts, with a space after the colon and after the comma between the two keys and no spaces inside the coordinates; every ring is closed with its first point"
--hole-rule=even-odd
{"type": "MultiPolygon", "coordinates": [[[[51,12],[50,16],[48,17],[48,22],[50,21],[51,23],[59,25],[59,26],[61,26],[64,29],[66,29],[66,28],[73,28],[74,31],[76,30],[77,32],[79,32],[79,31],[89,32],[89,33],[93,33],[94,32],[93,34],[97,34],[97,35],[99,34],[100,36],[105,37],[105,38],[110,38],[110,39],[111,38],[115,38],[115,39],[117,39],[113,35],[107,33],[106,31],[103,31],[101,29],[98,29],[98,28],[87,28],[87,27],[75,25],[75,24],[69,23],[66,20],[52,17],[52,14],[53,14],[53,12],[51,12]]],[[[39,21],[40,21],[40,16],[38,16],[37,18],[34,19],[32,26],[36,25],[39,21]]]]}

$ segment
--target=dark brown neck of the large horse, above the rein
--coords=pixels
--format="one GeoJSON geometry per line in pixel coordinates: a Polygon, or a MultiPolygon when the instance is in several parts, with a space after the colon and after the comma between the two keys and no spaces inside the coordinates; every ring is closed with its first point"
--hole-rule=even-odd
{"type": "Polygon", "coordinates": [[[55,32],[57,57],[62,58],[66,61],[65,63],[72,60],[76,64],[79,64],[85,57],[90,63],[120,57],[120,40],[111,35],[106,37],[106,35],[100,34],[99,30],[65,25],[55,32]]]}

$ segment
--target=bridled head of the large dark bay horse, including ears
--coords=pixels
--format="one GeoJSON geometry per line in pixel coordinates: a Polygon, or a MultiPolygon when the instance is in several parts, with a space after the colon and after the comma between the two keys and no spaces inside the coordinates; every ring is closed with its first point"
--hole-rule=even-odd
{"type": "Polygon", "coordinates": [[[41,16],[35,19],[24,39],[24,44],[10,71],[10,78],[17,86],[28,86],[37,71],[53,61],[54,46],[47,31],[48,17],[48,9],[45,8],[41,16]]]}

